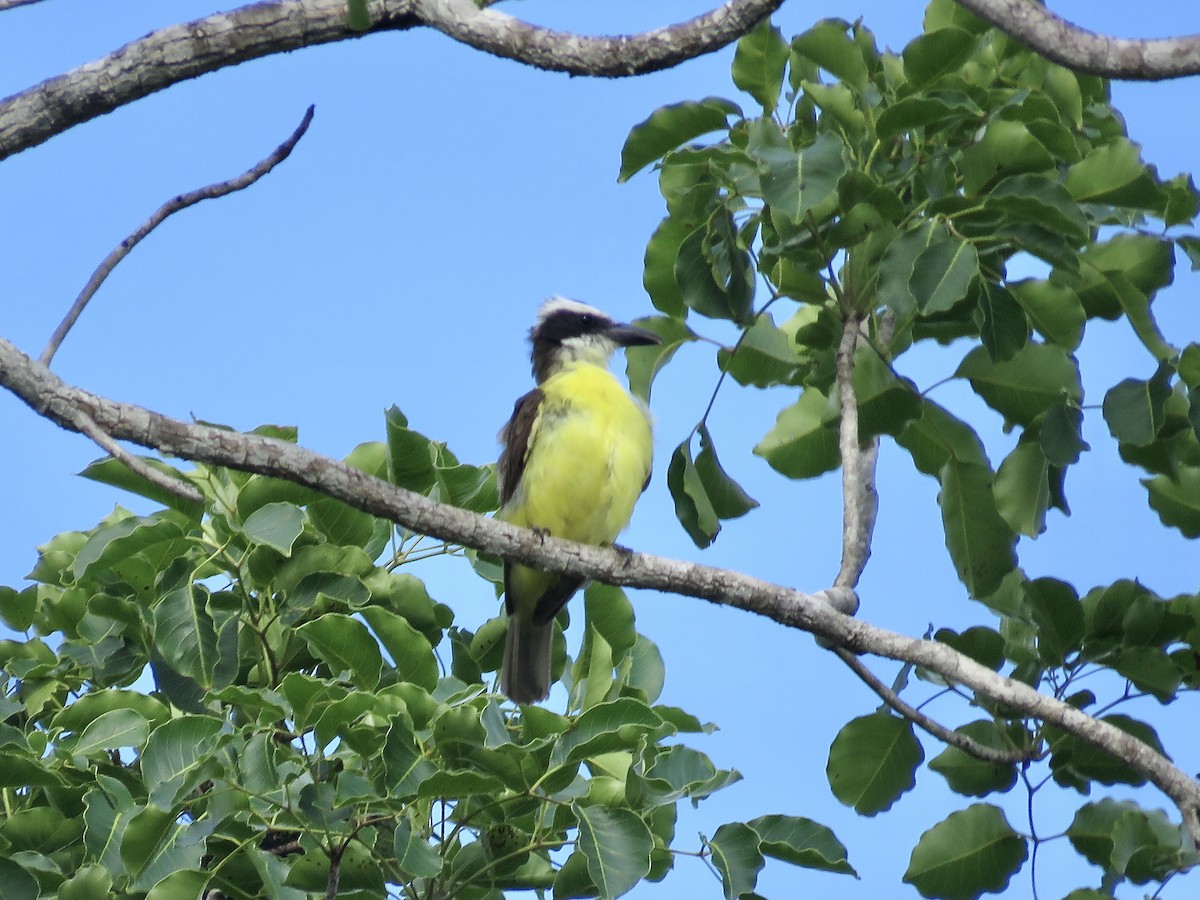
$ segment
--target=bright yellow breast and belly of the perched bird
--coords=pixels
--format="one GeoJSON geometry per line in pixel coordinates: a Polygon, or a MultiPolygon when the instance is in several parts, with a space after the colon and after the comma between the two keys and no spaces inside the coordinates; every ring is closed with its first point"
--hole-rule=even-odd
{"type": "Polygon", "coordinates": [[[589,362],[540,386],[524,472],[503,516],[558,538],[611,544],[650,472],[649,415],[607,368],[589,362]]]}

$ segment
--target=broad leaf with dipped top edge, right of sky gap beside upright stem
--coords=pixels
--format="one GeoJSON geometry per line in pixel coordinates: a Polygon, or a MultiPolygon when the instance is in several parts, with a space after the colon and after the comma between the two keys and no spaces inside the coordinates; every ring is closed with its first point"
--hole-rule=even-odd
{"type": "Polygon", "coordinates": [[[1062,348],[1030,343],[1004,362],[994,362],[977,347],[955,370],[984,402],[1008,421],[1031,425],[1054,403],[1082,400],[1079,366],[1062,348]]]}

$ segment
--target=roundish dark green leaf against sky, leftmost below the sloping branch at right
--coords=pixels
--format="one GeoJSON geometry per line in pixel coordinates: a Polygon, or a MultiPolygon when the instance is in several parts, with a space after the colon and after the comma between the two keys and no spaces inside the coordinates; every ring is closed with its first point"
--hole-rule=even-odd
{"type": "Polygon", "coordinates": [[[925,758],[912,722],[889,713],[852,719],[829,748],[826,776],[834,797],[862,816],[883,812],[917,784],[925,758]]]}

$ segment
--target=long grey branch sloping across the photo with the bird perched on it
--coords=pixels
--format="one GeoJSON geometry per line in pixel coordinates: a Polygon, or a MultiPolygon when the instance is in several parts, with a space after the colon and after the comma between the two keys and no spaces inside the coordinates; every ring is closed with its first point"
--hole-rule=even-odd
{"type": "Polygon", "coordinates": [[[113,438],[187,460],[294,481],[445,541],[547,571],[710,600],[809,631],[854,653],[924,666],[1024,715],[1057,725],[1123,760],[1171,798],[1193,839],[1200,841],[1200,784],[1153,748],[1068,703],[1004,678],[947,644],[906,637],[838,612],[829,600],[851,593],[845,588],[802,594],[739,572],[542,536],[434,503],[293,444],[188,425],[72,388],[2,338],[0,386],[24,400],[38,414],[73,431],[77,430],[73,416],[83,412],[113,438]]]}

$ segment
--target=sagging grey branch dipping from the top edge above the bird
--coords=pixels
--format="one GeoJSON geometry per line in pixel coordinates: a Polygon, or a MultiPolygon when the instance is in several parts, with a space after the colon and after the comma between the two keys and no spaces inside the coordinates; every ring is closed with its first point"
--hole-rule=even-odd
{"type": "Polygon", "coordinates": [[[529,25],[473,0],[413,0],[438,31],[479,50],[571,74],[622,77],[656,72],[720,49],[773,13],[784,0],[730,0],[677,25],[620,37],[587,37],[529,25]]]}

